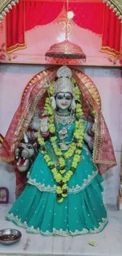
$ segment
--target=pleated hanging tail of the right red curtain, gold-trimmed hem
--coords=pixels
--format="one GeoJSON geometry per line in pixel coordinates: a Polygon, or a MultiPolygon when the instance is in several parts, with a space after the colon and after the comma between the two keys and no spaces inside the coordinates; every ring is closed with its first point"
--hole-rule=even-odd
{"type": "Polygon", "coordinates": [[[115,57],[120,55],[120,20],[106,4],[104,4],[101,51],[113,54],[115,57]]]}

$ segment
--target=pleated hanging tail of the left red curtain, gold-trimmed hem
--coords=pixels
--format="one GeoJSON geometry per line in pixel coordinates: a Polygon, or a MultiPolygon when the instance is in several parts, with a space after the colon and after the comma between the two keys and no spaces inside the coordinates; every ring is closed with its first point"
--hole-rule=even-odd
{"type": "Polygon", "coordinates": [[[6,16],[6,50],[8,53],[26,47],[24,41],[24,2],[9,10],[6,16]]]}

